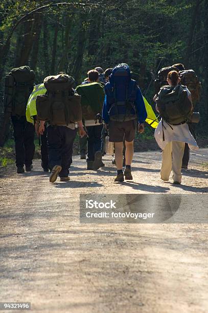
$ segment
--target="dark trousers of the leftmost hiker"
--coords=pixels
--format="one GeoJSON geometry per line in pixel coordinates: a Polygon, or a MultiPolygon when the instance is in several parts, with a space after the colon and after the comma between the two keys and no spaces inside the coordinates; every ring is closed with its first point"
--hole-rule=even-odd
{"type": "Polygon", "coordinates": [[[12,116],[14,128],[14,141],[16,153],[16,166],[31,166],[35,152],[34,136],[35,127],[32,123],[27,122],[25,116],[20,118],[12,116]]]}

